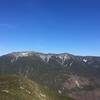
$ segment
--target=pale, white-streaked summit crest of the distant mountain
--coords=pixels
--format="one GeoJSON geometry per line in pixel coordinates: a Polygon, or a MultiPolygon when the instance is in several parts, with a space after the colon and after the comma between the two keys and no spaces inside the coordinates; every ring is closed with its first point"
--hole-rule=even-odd
{"type": "Polygon", "coordinates": [[[36,56],[40,57],[45,62],[49,62],[49,60],[52,59],[52,57],[59,58],[62,62],[70,59],[70,54],[68,54],[68,53],[50,54],[50,53],[26,51],[26,52],[13,52],[13,53],[10,53],[10,55],[13,55],[14,57],[16,57],[16,60],[19,57],[28,57],[28,56],[36,55],[36,56]]]}

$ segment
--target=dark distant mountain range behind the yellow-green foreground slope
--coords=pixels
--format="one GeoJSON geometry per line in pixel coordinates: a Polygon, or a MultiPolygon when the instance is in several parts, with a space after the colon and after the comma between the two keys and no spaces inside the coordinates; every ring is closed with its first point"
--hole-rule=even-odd
{"type": "Polygon", "coordinates": [[[0,74],[28,78],[75,100],[100,100],[100,57],[13,52],[0,57],[0,74]]]}

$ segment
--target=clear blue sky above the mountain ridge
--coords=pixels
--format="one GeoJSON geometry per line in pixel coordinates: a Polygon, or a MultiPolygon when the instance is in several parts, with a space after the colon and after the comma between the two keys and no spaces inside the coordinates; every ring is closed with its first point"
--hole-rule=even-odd
{"type": "Polygon", "coordinates": [[[0,0],[0,55],[29,50],[100,56],[100,1],[0,0]]]}

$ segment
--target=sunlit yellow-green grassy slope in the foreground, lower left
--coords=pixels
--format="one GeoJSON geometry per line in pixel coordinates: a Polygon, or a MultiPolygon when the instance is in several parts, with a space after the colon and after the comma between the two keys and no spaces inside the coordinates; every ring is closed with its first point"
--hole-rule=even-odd
{"type": "Polygon", "coordinates": [[[0,100],[73,100],[18,76],[0,76],[0,100]]]}

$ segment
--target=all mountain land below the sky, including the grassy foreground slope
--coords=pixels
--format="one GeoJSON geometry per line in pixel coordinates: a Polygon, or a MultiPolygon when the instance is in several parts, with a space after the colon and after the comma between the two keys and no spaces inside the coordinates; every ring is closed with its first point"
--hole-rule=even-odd
{"type": "Polygon", "coordinates": [[[0,56],[0,100],[100,100],[100,57],[29,51],[0,56]]]}

